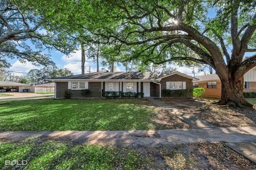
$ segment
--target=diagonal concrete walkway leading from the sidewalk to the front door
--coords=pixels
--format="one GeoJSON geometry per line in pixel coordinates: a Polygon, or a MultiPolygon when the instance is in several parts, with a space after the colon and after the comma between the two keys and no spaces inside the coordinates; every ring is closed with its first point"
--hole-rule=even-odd
{"type": "Polygon", "coordinates": [[[175,108],[171,105],[167,105],[160,100],[156,100],[153,98],[147,98],[147,99],[149,101],[151,101],[152,103],[154,103],[155,105],[157,105],[158,107],[165,108],[168,112],[179,117],[182,121],[186,122],[193,128],[214,128],[215,127],[214,125],[212,125],[206,121],[200,120],[199,118],[197,118],[194,115],[189,115],[189,114],[180,112],[180,109],[175,108]]]}

